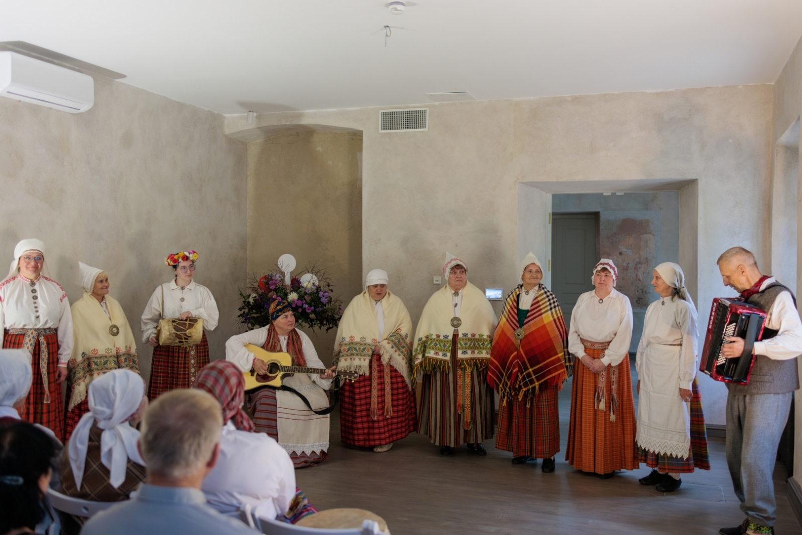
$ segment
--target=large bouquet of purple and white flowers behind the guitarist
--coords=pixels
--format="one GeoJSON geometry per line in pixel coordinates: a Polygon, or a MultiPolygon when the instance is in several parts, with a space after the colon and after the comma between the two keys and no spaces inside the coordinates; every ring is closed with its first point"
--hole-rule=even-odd
{"type": "Polygon", "coordinates": [[[326,331],[337,327],[342,316],[342,300],[334,296],[326,273],[312,265],[301,278],[287,275],[287,272],[275,271],[250,278],[245,292],[240,290],[239,322],[248,330],[269,325],[270,304],[283,299],[292,307],[296,326],[326,331]]]}

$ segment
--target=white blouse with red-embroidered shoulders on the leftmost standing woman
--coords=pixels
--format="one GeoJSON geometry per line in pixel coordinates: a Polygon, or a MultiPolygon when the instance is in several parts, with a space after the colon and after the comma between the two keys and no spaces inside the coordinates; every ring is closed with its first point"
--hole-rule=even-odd
{"type": "MultiPolygon", "coordinates": [[[[56,329],[59,337],[59,366],[67,366],[72,355],[72,313],[67,292],[58,282],[39,275],[29,281],[17,275],[0,284],[0,332],[5,329],[56,329]]],[[[35,362],[38,362],[36,357],[35,362]]]]}

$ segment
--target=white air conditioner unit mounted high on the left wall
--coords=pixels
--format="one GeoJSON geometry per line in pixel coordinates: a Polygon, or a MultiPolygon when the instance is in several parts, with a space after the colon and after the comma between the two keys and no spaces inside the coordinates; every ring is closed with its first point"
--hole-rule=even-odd
{"type": "Polygon", "coordinates": [[[89,75],[16,52],[0,52],[0,95],[80,113],[95,103],[95,80],[89,75]]]}

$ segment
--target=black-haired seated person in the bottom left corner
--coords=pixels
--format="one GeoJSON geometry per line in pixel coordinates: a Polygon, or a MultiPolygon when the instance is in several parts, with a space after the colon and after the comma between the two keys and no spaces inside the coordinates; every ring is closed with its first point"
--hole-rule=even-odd
{"type": "Polygon", "coordinates": [[[47,501],[55,443],[22,420],[0,425],[0,533],[59,533],[47,501]]]}

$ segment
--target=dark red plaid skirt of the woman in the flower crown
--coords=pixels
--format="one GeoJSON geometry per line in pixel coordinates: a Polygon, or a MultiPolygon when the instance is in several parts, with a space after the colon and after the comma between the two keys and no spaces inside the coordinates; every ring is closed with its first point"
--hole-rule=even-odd
{"type": "Polygon", "coordinates": [[[156,346],[153,348],[148,399],[153,401],[164,392],[176,388],[192,388],[202,367],[209,364],[209,341],[206,333],[201,343],[192,347],[156,346]]]}

